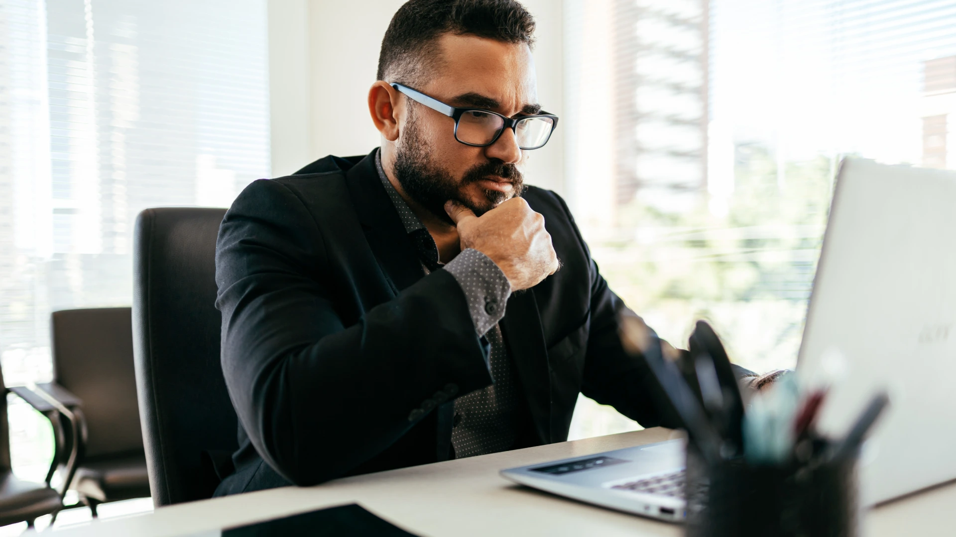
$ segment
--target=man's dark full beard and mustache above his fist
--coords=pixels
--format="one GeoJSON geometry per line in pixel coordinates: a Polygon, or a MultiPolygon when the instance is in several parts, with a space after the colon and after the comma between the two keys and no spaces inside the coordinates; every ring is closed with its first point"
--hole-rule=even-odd
{"type": "Polygon", "coordinates": [[[429,151],[424,141],[414,113],[409,114],[405,124],[404,136],[395,151],[395,179],[409,198],[443,222],[452,226],[455,224],[445,212],[445,202],[448,200],[463,204],[475,216],[481,216],[510,197],[508,193],[485,188],[484,200],[468,200],[463,190],[469,183],[496,176],[511,181],[514,196],[520,196],[524,190],[524,176],[517,166],[499,159],[475,164],[467,169],[461,180],[456,180],[439,162],[432,159],[433,152],[429,151]]]}

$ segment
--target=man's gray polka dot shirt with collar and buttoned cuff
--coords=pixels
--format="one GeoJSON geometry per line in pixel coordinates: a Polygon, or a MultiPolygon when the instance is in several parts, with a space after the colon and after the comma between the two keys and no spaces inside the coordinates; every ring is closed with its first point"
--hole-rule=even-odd
{"type": "Polygon", "coordinates": [[[489,370],[494,383],[455,399],[451,428],[455,457],[461,459],[510,449],[515,437],[518,394],[514,364],[498,326],[498,321],[505,316],[505,303],[511,295],[508,278],[487,255],[472,248],[443,265],[431,234],[385,176],[380,155],[381,151],[375,155],[379,179],[418,250],[424,272],[445,269],[458,280],[465,291],[475,332],[488,340],[491,349],[489,370]]]}

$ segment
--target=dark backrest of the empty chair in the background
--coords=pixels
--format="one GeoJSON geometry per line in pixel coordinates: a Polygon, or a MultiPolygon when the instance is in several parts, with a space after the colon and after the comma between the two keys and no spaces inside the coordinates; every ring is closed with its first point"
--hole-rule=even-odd
{"type": "Polygon", "coordinates": [[[83,401],[87,460],[142,451],[129,308],[54,311],[56,382],[83,401]]]}

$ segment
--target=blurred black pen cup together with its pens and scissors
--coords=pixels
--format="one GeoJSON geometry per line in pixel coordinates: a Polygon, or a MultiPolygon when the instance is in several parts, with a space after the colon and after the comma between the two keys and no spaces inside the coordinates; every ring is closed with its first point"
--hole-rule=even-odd
{"type": "Polygon", "coordinates": [[[781,460],[754,460],[746,456],[743,397],[713,329],[698,321],[689,353],[668,360],[661,340],[640,318],[622,317],[620,326],[624,348],[644,357],[655,382],[652,388],[664,395],[664,404],[687,430],[687,536],[858,534],[859,448],[888,403],[885,394],[871,400],[847,437],[839,441],[820,438],[812,427],[825,389],[804,396],[801,405],[794,400],[793,420],[786,423],[793,431],[789,455],[781,460]]]}

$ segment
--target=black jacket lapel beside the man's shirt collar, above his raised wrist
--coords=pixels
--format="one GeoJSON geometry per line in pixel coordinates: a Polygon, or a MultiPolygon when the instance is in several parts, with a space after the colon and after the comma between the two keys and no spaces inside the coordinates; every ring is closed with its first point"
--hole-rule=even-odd
{"type": "Polygon", "coordinates": [[[346,183],[365,239],[389,285],[398,294],[419,281],[424,276],[424,270],[395,205],[381,185],[379,171],[375,167],[375,151],[378,149],[347,172],[346,183]]]}

